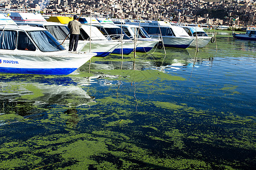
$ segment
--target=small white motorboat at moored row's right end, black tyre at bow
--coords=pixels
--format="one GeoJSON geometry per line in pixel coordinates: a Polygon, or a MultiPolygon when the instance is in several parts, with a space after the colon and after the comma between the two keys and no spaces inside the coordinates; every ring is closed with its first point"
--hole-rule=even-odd
{"type": "MultiPolygon", "coordinates": [[[[185,31],[191,37],[197,36],[197,46],[198,48],[205,47],[210,41],[215,42],[214,33],[207,34],[203,28],[201,27],[193,27],[187,25],[180,25],[180,27],[184,28],[185,31]]],[[[189,45],[189,47],[196,47],[196,39],[189,45]]]]}

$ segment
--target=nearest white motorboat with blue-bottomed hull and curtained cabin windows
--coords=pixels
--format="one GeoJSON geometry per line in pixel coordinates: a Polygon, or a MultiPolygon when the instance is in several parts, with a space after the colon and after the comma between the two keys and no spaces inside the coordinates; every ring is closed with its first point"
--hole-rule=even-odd
{"type": "Polygon", "coordinates": [[[44,28],[16,25],[0,14],[0,73],[67,75],[96,53],[68,52],[44,28]]]}

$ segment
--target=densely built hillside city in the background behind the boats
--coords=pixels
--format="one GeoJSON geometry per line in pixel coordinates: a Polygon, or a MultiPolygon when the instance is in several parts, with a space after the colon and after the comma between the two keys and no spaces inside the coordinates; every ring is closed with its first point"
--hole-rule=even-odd
{"type": "Polygon", "coordinates": [[[256,25],[255,0],[0,0],[1,10],[168,20],[209,25],[256,25]]]}

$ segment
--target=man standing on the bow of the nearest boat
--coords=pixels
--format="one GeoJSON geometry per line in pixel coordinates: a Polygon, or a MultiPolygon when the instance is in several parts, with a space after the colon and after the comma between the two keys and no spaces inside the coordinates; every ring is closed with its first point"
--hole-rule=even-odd
{"type": "Polygon", "coordinates": [[[69,33],[70,33],[68,50],[72,51],[72,49],[73,49],[74,52],[76,52],[77,44],[79,41],[80,28],[82,27],[82,24],[78,21],[79,18],[77,17],[77,15],[74,15],[73,18],[74,18],[74,20],[72,20],[68,23],[68,28],[69,28],[69,33]]]}

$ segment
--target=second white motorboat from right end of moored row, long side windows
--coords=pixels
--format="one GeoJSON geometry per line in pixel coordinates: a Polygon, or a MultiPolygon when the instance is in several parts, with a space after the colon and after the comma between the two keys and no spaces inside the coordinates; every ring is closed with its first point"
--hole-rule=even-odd
{"type": "Polygon", "coordinates": [[[163,44],[171,48],[188,48],[195,40],[181,27],[173,26],[168,22],[150,21],[150,22],[126,22],[126,24],[135,24],[143,27],[153,38],[162,36],[163,44]]]}

